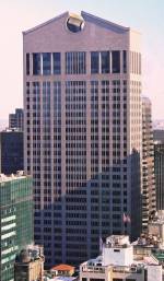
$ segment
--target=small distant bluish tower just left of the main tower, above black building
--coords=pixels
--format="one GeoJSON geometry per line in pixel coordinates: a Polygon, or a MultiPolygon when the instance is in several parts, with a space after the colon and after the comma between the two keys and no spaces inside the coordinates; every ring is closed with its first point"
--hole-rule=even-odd
{"type": "Polygon", "coordinates": [[[16,108],[14,114],[9,115],[9,129],[19,129],[23,131],[23,109],[16,108]]]}

